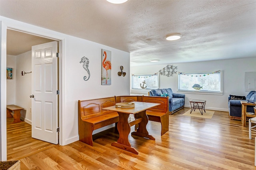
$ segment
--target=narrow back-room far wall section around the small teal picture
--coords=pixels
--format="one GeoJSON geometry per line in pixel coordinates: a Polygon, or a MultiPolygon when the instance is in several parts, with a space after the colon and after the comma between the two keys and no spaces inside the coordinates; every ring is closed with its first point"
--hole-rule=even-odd
{"type": "Polygon", "coordinates": [[[8,55],[6,67],[12,68],[12,79],[6,80],[6,104],[15,104],[16,100],[16,56],[8,55]]]}

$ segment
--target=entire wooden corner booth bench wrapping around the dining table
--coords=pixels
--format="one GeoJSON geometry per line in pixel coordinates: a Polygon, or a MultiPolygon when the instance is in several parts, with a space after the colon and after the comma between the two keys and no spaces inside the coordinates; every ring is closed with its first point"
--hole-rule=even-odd
{"type": "MultiPolygon", "coordinates": [[[[78,134],[79,141],[93,146],[92,132],[101,127],[117,123],[116,111],[103,110],[120,102],[150,102],[160,105],[146,110],[148,120],[161,123],[161,135],[169,130],[168,97],[156,96],[114,96],[93,100],[78,100],[78,134]]],[[[136,114],[134,115],[136,119],[136,114]]],[[[135,130],[138,125],[135,125],[135,130]]]]}

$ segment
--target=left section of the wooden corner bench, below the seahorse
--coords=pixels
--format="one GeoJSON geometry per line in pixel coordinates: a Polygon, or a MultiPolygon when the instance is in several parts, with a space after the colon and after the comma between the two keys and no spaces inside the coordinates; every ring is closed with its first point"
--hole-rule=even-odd
{"type": "Polygon", "coordinates": [[[94,130],[117,123],[119,120],[117,112],[102,110],[104,107],[115,105],[115,97],[82,101],[78,100],[79,141],[93,146],[92,132],[94,130]]]}

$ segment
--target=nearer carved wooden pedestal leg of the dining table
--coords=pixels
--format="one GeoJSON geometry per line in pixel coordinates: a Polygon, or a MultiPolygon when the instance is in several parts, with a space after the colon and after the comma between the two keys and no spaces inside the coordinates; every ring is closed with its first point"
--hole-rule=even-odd
{"type": "Polygon", "coordinates": [[[128,140],[128,135],[131,131],[130,124],[128,123],[129,114],[118,112],[118,115],[119,115],[119,121],[117,124],[117,129],[119,132],[119,139],[117,142],[114,142],[111,145],[113,147],[117,147],[119,149],[132,152],[134,154],[139,154],[139,152],[135,148],[131,147],[131,144],[128,140]]]}

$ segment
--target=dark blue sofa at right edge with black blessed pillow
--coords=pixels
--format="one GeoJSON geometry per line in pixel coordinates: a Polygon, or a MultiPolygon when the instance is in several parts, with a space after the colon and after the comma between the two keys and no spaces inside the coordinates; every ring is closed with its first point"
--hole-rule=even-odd
{"type": "MultiPolygon", "coordinates": [[[[228,97],[228,111],[229,111],[229,117],[230,119],[236,119],[236,120],[241,120],[242,119],[242,104],[241,104],[241,99],[242,96],[232,96],[230,95],[228,97]],[[236,100],[232,100],[236,99],[236,100]]],[[[256,91],[250,91],[249,94],[246,96],[245,100],[252,100],[255,102],[256,98],[256,91]]],[[[247,106],[247,111],[246,112],[252,112],[254,113],[254,106],[247,106]]]]}

